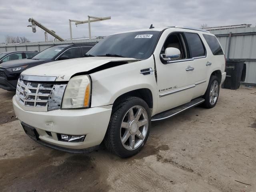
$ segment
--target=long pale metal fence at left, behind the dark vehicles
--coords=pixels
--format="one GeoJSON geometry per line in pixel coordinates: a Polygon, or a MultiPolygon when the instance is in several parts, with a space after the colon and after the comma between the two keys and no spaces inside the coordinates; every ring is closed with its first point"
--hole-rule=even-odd
{"type": "Polygon", "coordinates": [[[0,53],[6,51],[42,51],[50,46],[58,44],[75,44],[75,43],[97,43],[103,38],[95,39],[85,39],[85,40],[72,40],[72,41],[57,41],[57,42],[35,42],[35,43],[22,43],[22,44],[10,44],[10,45],[0,45],[0,53]]]}

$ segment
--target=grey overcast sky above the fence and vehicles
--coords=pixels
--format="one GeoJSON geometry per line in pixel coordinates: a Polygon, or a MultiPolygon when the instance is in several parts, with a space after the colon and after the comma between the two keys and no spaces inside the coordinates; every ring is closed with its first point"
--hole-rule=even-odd
{"type": "MultiPolygon", "coordinates": [[[[32,42],[44,41],[44,31],[32,33],[33,17],[62,38],[70,38],[68,19],[87,16],[111,20],[91,24],[92,36],[155,27],[185,25],[200,27],[256,24],[256,0],[1,0],[0,42],[6,35],[25,36],[32,42]]],[[[88,24],[72,24],[73,38],[88,37],[88,24]]],[[[48,35],[48,38],[52,36],[48,35]]],[[[53,39],[53,38],[52,38],[53,39]]]]}

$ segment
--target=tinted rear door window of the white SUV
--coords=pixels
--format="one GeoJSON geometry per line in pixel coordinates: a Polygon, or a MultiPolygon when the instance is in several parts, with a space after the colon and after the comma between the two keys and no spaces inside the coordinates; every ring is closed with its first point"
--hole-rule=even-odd
{"type": "Polygon", "coordinates": [[[199,57],[205,55],[204,45],[196,33],[185,33],[191,57],[199,57]]]}

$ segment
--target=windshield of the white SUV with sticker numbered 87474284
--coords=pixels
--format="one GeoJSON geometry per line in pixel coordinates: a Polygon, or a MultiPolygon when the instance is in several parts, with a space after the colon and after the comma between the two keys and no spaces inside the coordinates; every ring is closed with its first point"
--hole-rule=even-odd
{"type": "Polygon", "coordinates": [[[152,54],[159,34],[160,31],[139,31],[110,35],[96,44],[87,54],[147,59],[152,54]]]}

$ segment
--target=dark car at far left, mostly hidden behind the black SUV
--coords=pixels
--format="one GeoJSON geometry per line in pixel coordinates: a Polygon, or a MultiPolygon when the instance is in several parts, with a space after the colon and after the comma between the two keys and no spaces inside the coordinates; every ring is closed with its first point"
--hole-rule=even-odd
{"type": "Polygon", "coordinates": [[[6,61],[12,61],[12,60],[18,60],[18,59],[31,59],[35,55],[37,55],[38,52],[36,51],[8,51],[8,52],[2,52],[0,53],[0,63],[6,62],[6,61]]]}

